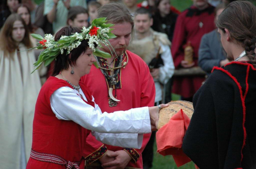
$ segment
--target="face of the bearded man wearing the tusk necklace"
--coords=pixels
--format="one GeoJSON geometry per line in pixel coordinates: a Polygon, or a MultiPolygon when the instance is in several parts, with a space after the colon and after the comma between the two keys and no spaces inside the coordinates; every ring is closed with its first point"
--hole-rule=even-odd
{"type": "MultiPolygon", "coordinates": [[[[116,35],[115,38],[109,39],[109,42],[111,46],[114,48],[114,51],[116,52],[116,56],[121,56],[124,51],[126,51],[126,48],[128,47],[130,43],[130,37],[132,33],[132,25],[128,22],[125,23],[117,23],[111,28],[114,28],[111,32],[116,35]]],[[[111,54],[109,48],[111,46],[104,46],[102,51],[105,51],[109,54],[111,54]]],[[[111,49],[112,53],[114,54],[114,51],[111,49]]],[[[115,56],[115,54],[114,54],[115,56]]]]}

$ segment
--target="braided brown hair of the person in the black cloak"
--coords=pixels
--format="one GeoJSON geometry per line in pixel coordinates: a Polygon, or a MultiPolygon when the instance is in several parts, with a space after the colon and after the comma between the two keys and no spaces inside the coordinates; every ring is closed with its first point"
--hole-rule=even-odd
{"type": "Polygon", "coordinates": [[[256,7],[249,1],[231,2],[220,14],[216,25],[228,29],[230,37],[244,47],[250,63],[256,67],[256,7]]]}

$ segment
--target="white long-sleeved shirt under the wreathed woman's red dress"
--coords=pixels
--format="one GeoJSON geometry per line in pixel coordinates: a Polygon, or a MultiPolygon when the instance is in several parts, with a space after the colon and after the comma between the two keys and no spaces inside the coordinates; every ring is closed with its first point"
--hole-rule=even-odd
{"type": "MultiPolygon", "coordinates": [[[[92,135],[104,144],[141,148],[143,134],[151,132],[148,107],[102,113],[97,104],[94,108],[86,104],[77,94],[77,90],[61,87],[51,95],[51,108],[59,120],[72,120],[82,127],[92,130],[92,135]]],[[[79,94],[86,100],[81,89],[79,94]]],[[[92,101],[94,102],[93,97],[92,101]]]]}

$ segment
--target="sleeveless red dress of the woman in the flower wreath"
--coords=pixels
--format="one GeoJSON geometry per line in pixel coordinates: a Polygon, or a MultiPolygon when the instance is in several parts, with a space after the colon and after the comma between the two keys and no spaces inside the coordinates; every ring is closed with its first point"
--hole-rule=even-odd
{"type": "MultiPolygon", "coordinates": [[[[79,85],[85,94],[88,102],[92,96],[85,85],[79,85]]],[[[50,97],[58,88],[68,86],[66,81],[50,76],[42,86],[36,102],[35,116],[33,120],[33,141],[32,150],[39,153],[47,153],[60,156],[66,161],[79,162],[82,160],[82,150],[84,141],[90,130],[86,130],[71,120],[59,120],[50,106],[50,97]]],[[[89,101],[90,100],[90,101],[89,101]]],[[[94,104],[94,103],[93,103],[94,104]]],[[[94,105],[92,105],[94,106],[94,105]]],[[[52,162],[42,162],[31,157],[28,160],[27,169],[66,169],[64,165],[52,162]]],[[[80,168],[84,168],[84,160],[80,163],[80,168]]]]}

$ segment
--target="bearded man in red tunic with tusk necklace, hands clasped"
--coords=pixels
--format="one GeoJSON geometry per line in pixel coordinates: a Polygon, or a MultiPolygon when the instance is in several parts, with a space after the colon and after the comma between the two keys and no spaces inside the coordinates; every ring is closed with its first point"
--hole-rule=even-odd
{"type": "MultiPolygon", "coordinates": [[[[115,24],[111,28],[114,28],[112,33],[116,38],[109,39],[114,49],[111,46],[100,48],[107,53],[113,53],[113,57],[97,57],[100,68],[92,66],[90,74],[83,76],[81,80],[92,92],[102,112],[154,106],[155,86],[149,68],[139,56],[126,50],[133,32],[132,16],[124,5],[118,3],[104,5],[98,12],[99,17],[107,17],[109,23],[115,24]]],[[[104,145],[89,135],[86,140],[87,149],[84,150],[85,159],[89,164],[100,161],[108,167],[142,169],[142,151],[150,135],[144,134],[140,149],[104,145]],[[107,150],[113,157],[104,155],[107,150]]]]}

